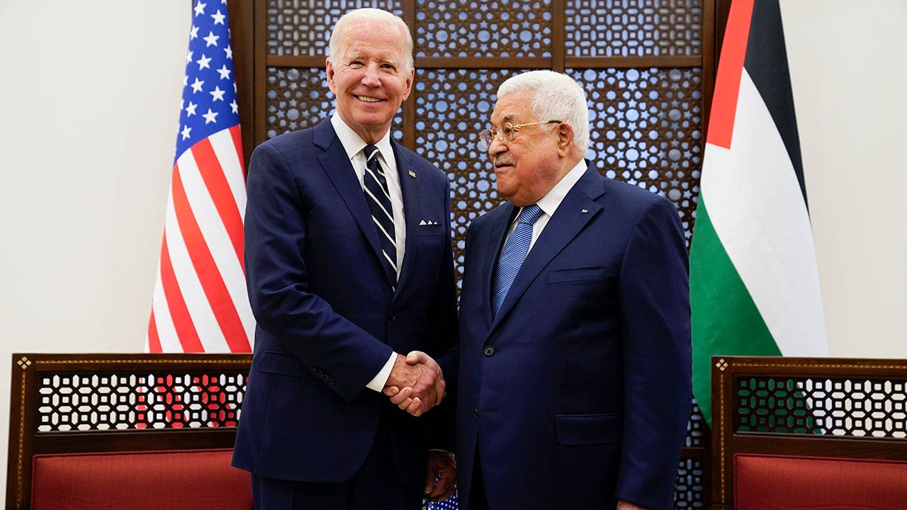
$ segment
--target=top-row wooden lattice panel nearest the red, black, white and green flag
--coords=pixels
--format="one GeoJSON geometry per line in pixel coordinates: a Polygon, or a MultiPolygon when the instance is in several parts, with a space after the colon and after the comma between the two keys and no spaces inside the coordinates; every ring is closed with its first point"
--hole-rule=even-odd
{"type": "Polygon", "coordinates": [[[701,0],[568,0],[573,56],[702,54],[701,0]]]}

